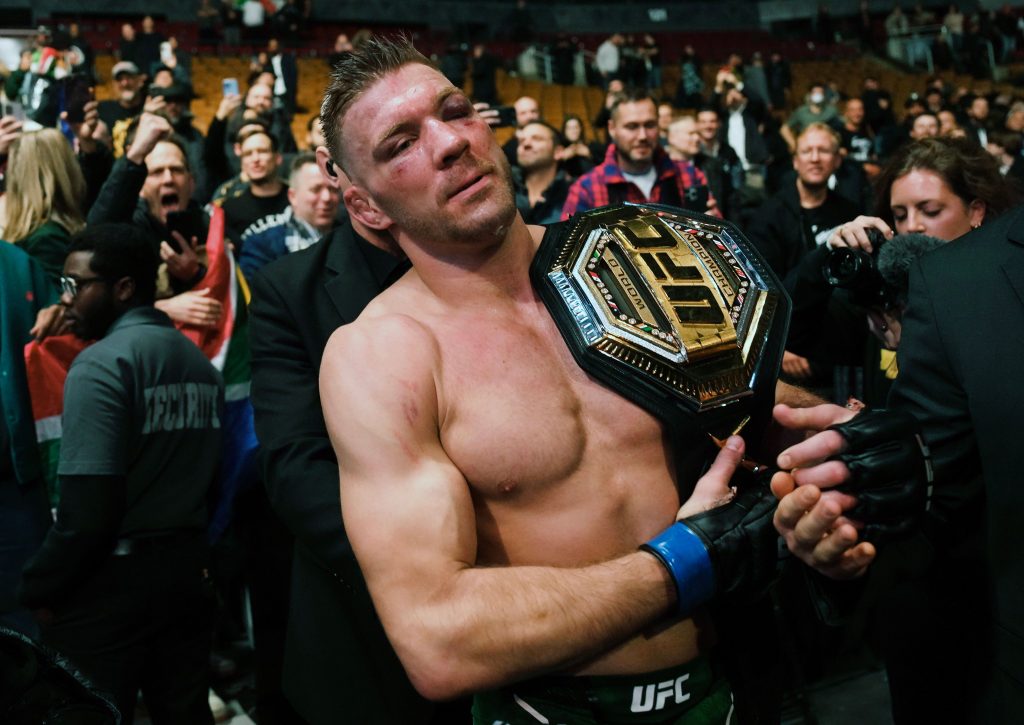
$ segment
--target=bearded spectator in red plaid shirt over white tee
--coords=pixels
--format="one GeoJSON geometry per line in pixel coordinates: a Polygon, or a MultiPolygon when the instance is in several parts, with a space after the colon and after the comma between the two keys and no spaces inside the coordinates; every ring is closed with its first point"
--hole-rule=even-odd
{"type": "Polygon", "coordinates": [[[611,144],[604,163],[577,179],[562,219],[623,202],[667,204],[721,216],[715,198],[698,194],[707,180],[691,164],[677,164],[657,142],[657,106],[647,90],[627,91],[611,106],[611,144]],[[692,190],[691,190],[692,189],[692,190]]]}

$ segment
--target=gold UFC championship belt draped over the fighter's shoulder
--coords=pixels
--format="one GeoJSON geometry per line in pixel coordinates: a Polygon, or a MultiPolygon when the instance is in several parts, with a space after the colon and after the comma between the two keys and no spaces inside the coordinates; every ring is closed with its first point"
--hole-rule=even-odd
{"type": "Polygon", "coordinates": [[[790,298],[734,225],[602,207],[549,226],[530,278],[580,367],[684,447],[767,422],[790,298]]]}

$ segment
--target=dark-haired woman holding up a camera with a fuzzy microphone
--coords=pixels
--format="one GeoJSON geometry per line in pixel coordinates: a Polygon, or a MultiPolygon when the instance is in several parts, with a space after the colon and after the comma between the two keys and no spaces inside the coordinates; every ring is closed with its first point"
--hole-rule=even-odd
{"type": "MultiPolygon", "coordinates": [[[[883,169],[878,189],[879,216],[858,216],[838,226],[827,245],[804,257],[786,280],[793,297],[788,349],[837,365],[863,366],[863,382],[852,392],[868,404],[884,404],[896,377],[893,351],[899,344],[906,268],[935,246],[906,236],[949,242],[1006,211],[1017,199],[1015,187],[1004,181],[983,150],[953,138],[925,138],[901,147],[883,169]],[[892,281],[876,276],[874,289],[870,283],[857,288],[851,281],[855,289],[833,294],[836,288],[823,271],[830,256],[834,267],[842,265],[833,250],[873,255],[872,262],[864,261],[877,267],[878,242],[883,241],[884,249],[894,238],[899,249],[887,253],[885,269],[890,278],[895,274],[892,281]],[[866,301],[871,295],[873,304],[866,301]]],[[[852,264],[854,257],[848,259],[852,264]]]]}

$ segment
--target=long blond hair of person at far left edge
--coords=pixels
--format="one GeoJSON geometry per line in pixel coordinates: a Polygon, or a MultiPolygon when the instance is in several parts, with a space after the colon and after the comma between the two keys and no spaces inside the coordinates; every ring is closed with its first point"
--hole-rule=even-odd
{"type": "Polygon", "coordinates": [[[72,234],[85,226],[85,177],[55,128],[26,133],[11,144],[6,178],[8,241],[19,242],[47,221],[72,234]]]}

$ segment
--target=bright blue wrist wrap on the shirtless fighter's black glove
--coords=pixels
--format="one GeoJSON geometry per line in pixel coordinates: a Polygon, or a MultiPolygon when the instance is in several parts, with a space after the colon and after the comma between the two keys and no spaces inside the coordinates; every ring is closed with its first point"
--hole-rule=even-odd
{"type": "Polygon", "coordinates": [[[715,595],[715,570],[708,548],[683,522],[676,521],[640,548],[656,556],[672,574],[680,615],[693,613],[715,595]]]}

